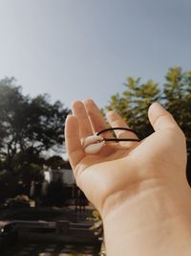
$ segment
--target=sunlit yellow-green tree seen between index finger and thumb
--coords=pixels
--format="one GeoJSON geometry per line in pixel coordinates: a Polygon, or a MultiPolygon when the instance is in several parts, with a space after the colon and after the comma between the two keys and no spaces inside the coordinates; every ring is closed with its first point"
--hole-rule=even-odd
{"type": "Polygon", "coordinates": [[[148,106],[159,101],[158,83],[150,80],[140,83],[140,79],[127,78],[124,83],[126,90],[111,97],[107,110],[117,111],[128,125],[138,132],[139,137],[145,137],[153,131],[147,119],[148,106]]]}

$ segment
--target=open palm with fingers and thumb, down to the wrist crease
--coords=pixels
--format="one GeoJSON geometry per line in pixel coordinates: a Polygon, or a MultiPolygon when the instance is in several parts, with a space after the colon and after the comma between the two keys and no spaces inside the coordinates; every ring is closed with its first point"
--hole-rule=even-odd
{"type": "MultiPolygon", "coordinates": [[[[95,155],[85,153],[80,138],[107,128],[107,124],[92,100],[76,101],[72,107],[73,115],[66,122],[66,148],[78,187],[102,217],[144,190],[166,186],[188,189],[185,137],[159,104],[148,110],[155,129],[152,135],[141,142],[125,142],[125,147],[108,143],[95,155]]],[[[111,127],[127,128],[116,112],[108,112],[107,120],[111,127]]],[[[137,138],[130,131],[117,130],[116,134],[119,138],[137,138]]]]}

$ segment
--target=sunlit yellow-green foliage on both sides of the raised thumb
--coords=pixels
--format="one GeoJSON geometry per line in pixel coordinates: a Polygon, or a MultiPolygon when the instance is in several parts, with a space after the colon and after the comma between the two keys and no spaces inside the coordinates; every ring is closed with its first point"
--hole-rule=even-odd
{"type": "Polygon", "coordinates": [[[117,111],[127,124],[144,138],[153,132],[147,111],[153,102],[159,102],[171,112],[187,139],[191,151],[191,71],[182,72],[180,67],[170,68],[162,86],[152,80],[144,83],[127,78],[121,95],[111,97],[106,110],[117,111]]]}

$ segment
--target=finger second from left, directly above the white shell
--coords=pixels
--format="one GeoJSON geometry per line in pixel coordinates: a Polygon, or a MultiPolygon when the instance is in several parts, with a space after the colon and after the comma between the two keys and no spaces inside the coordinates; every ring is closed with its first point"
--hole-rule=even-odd
{"type": "Polygon", "coordinates": [[[92,135],[93,130],[84,105],[81,102],[76,101],[72,104],[72,109],[73,114],[76,116],[78,120],[79,137],[85,138],[87,136],[92,135]]]}

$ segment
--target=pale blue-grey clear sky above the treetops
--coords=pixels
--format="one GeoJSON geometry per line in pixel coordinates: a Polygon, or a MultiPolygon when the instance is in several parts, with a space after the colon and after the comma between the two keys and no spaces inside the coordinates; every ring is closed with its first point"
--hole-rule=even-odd
{"type": "Polygon", "coordinates": [[[0,80],[103,107],[126,77],[191,70],[190,0],[0,0],[0,80]]]}

